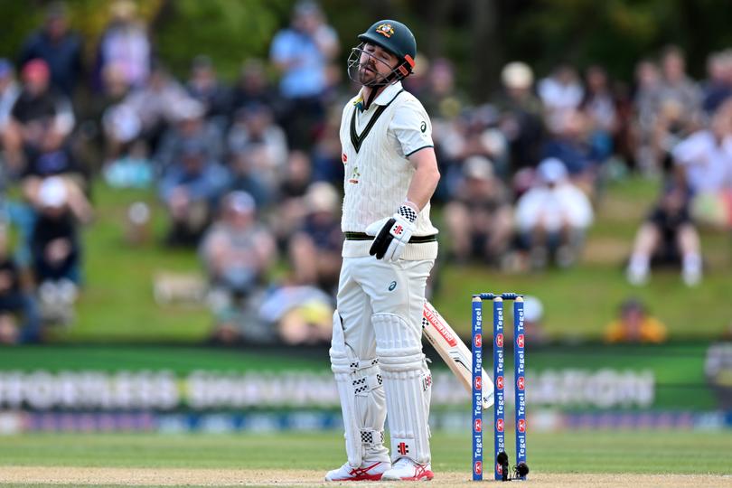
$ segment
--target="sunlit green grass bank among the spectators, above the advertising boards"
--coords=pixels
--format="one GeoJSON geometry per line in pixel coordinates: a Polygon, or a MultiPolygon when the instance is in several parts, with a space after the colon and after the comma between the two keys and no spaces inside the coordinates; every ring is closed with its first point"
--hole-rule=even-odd
{"type": "MultiPolygon", "coordinates": [[[[675,338],[710,339],[729,325],[730,239],[726,232],[702,235],[707,275],[690,289],[678,270],[654,273],[648,286],[629,286],[623,274],[633,234],[658,193],[658,183],[631,178],[611,184],[601,199],[596,224],[587,236],[586,252],[576,267],[565,271],[507,275],[479,264],[440,266],[440,286],[433,299],[455,329],[467,334],[470,295],[482,291],[514,291],[539,296],[545,308],[545,327],[553,337],[598,338],[615,317],[620,303],[638,296],[652,314],[668,325],[675,338]],[[693,324],[693,326],[691,326],[693,324]]],[[[166,216],[154,192],[112,190],[94,185],[97,219],[84,232],[85,286],[78,318],[70,328],[56,330],[54,340],[76,343],[164,342],[196,343],[211,330],[211,315],[203,307],[158,306],[153,300],[156,270],[201,272],[191,251],[160,245],[166,216]],[[147,202],[153,215],[152,239],[138,247],[125,242],[127,207],[147,202]]],[[[438,227],[442,224],[435,210],[438,227]]],[[[444,226],[442,226],[444,229],[444,226]]],[[[445,232],[441,234],[447,239],[445,232]]],[[[446,255],[446,247],[441,253],[446,255]]],[[[277,280],[288,269],[282,262],[277,280]]]]}

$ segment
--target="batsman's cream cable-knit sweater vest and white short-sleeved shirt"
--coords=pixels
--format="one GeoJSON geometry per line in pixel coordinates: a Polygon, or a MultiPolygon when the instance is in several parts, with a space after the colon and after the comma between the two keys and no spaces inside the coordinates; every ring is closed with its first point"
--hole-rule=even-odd
{"type": "MultiPolygon", "coordinates": [[[[433,147],[432,125],[418,99],[401,82],[389,85],[361,111],[361,92],[346,103],[341,119],[343,232],[363,232],[374,221],[388,218],[407,199],[416,169],[408,160],[420,149],[433,147]]],[[[418,213],[413,236],[436,234],[429,221],[429,203],[418,213]]],[[[371,240],[343,243],[343,258],[369,255],[371,240]]],[[[408,244],[401,258],[435,259],[437,243],[408,244]]]]}

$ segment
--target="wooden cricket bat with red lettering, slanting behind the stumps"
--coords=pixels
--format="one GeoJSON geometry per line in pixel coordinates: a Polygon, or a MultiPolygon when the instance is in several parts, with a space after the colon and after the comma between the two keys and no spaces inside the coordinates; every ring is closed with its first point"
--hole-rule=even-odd
{"type": "MultiPolygon", "coordinates": [[[[468,392],[473,391],[473,354],[434,306],[425,302],[422,332],[468,392]]],[[[483,409],[493,406],[493,380],[483,370],[483,409]]]]}

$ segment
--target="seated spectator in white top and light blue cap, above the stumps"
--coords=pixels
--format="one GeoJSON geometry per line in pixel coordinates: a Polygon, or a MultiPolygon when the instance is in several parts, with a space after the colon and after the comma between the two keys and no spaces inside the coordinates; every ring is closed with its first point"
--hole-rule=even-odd
{"type": "Polygon", "coordinates": [[[537,174],[537,182],[516,202],[521,248],[530,252],[534,268],[546,266],[550,255],[559,267],[571,266],[593,221],[592,205],[558,159],[542,161],[537,174]]]}

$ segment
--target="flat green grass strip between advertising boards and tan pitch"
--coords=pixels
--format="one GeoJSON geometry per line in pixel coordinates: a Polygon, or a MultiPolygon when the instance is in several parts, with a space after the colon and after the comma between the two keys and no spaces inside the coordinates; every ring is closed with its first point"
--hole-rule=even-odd
{"type": "MultiPolygon", "coordinates": [[[[436,433],[431,444],[436,473],[470,473],[467,429],[459,436],[436,433]]],[[[528,437],[528,462],[536,473],[730,474],[731,459],[728,431],[566,431],[528,437]]],[[[335,432],[0,436],[0,473],[2,466],[13,465],[326,471],[344,460],[343,437],[335,432]]]]}

